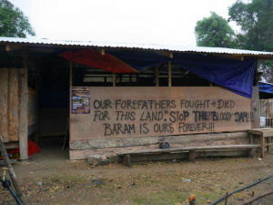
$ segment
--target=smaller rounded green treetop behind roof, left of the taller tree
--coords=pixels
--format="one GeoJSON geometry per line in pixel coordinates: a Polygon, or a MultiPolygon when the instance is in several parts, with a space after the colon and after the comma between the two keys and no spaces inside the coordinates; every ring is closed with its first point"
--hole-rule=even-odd
{"type": "Polygon", "coordinates": [[[195,27],[197,46],[234,47],[234,31],[227,20],[214,12],[211,16],[197,21],[195,27]]]}

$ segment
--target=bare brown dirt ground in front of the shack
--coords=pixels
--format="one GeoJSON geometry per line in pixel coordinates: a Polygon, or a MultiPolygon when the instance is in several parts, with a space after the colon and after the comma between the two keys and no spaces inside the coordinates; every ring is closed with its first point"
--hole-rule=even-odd
{"type": "MultiPolygon", "coordinates": [[[[26,164],[14,165],[27,204],[188,204],[196,194],[197,204],[210,204],[230,193],[273,174],[273,154],[262,160],[207,158],[147,161],[132,168],[109,164],[92,168],[86,161],[68,160],[61,145],[44,145],[26,164]],[[190,179],[190,181],[185,181],[190,179]]],[[[273,189],[273,178],[230,196],[227,204],[273,189]]],[[[0,204],[15,204],[0,188],[0,204]]],[[[218,204],[225,204],[222,201],[218,204]]],[[[252,204],[273,204],[273,195],[252,204]]]]}

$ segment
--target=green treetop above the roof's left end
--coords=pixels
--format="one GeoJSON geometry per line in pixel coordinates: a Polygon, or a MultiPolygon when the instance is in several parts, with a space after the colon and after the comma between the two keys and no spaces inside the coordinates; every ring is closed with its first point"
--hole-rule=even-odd
{"type": "Polygon", "coordinates": [[[27,34],[35,36],[28,18],[9,1],[0,0],[0,36],[26,37],[27,34]]]}

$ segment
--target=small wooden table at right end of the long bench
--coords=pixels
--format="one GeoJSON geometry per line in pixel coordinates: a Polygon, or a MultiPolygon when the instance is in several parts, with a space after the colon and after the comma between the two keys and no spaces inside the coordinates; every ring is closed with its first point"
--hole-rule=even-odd
{"type": "Polygon", "coordinates": [[[248,130],[250,143],[253,144],[253,135],[258,135],[260,137],[260,146],[262,149],[261,158],[265,157],[265,146],[268,147],[268,151],[270,150],[271,145],[271,137],[273,137],[273,128],[252,128],[248,130]],[[268,138],[268,144],[265,144],[265,138],[268,138]]]}

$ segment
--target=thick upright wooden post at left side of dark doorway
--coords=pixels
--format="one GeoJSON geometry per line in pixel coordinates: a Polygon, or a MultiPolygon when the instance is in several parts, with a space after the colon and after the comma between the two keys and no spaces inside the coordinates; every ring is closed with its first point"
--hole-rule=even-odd
{"type": "Polygon", "coordinates": [[[28,52],[24,50],[24,68],[19,69],[19,149],[20,159],[28,159],[27,146],[27,68],[28,52]]]}

